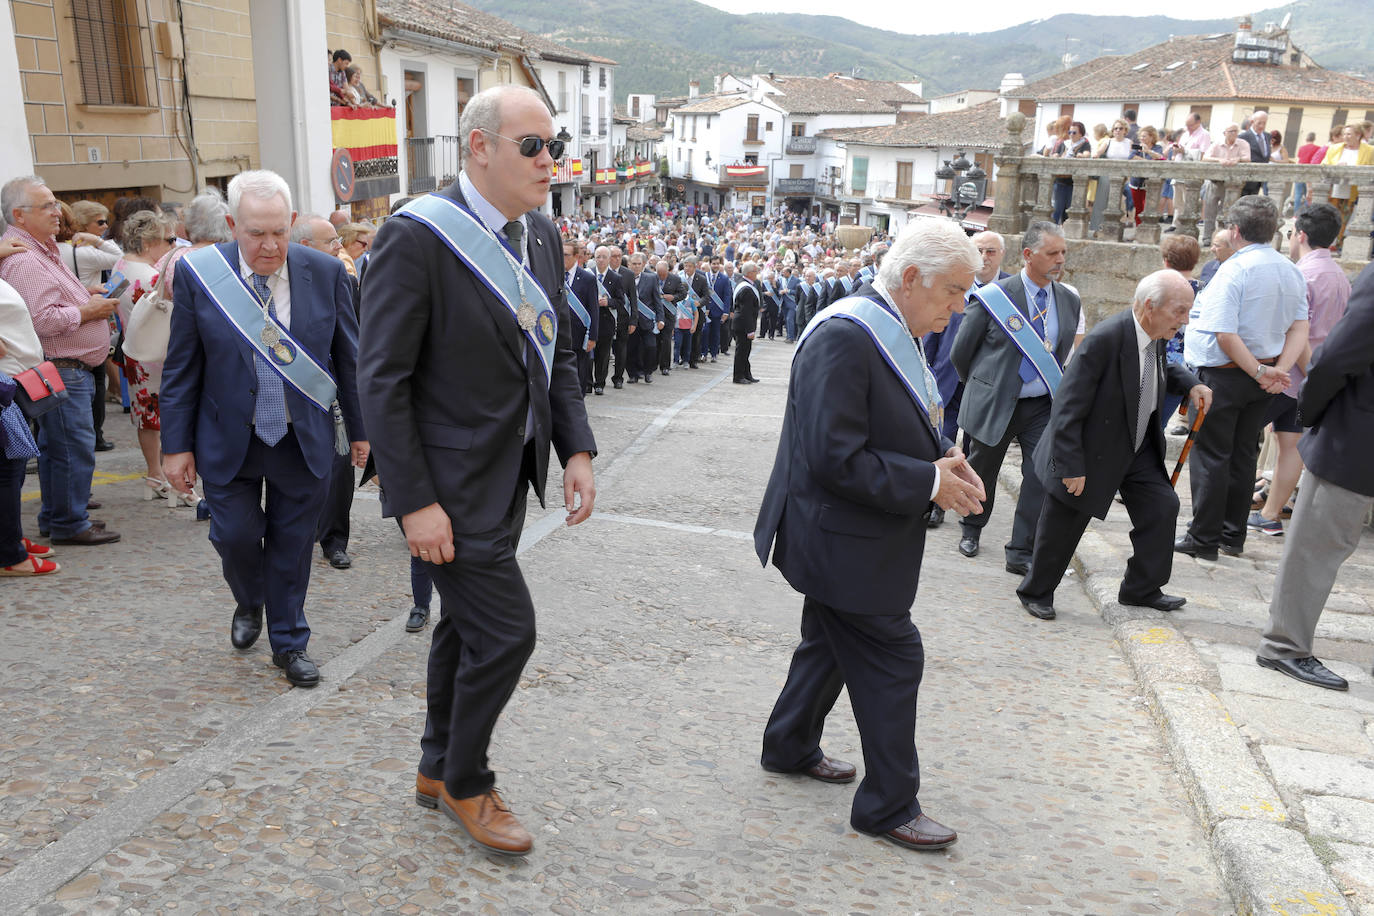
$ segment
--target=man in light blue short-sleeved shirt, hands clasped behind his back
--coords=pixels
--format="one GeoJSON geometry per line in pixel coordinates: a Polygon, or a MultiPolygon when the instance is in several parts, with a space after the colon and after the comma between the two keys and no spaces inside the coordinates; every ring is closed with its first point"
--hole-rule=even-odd
{"type": "Polygon", "coordinates": [[[1260,430],[1307,347],[1307,284],[1272,247],[1278,220],[1267,196],[1231,206],[1227,233],[1235,254],[1198,294],[1183,338],[1184,360],[1213,398],[1189,463],[1193,522],[1173,549],[1201,560],[1245,547],[1260,430]]]}

